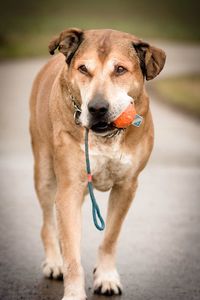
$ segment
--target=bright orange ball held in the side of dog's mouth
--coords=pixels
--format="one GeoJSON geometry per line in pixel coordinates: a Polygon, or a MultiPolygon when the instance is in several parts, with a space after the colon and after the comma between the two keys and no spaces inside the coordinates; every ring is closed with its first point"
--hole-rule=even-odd
{"type": "Polygon", "coordinates": [[[121,115],[114,120],[113,124],[118,128],[126,128],[133,122],[136,115],[136,110],[133,104],[129,106],[121,113],[121,115]]]}

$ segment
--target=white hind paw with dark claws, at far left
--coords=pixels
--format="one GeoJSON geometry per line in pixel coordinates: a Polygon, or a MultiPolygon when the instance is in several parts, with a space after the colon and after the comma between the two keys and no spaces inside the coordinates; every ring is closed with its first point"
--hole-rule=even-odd
{"type": "Polygon", "coordinates": [[[47,278],[63,279],[63,267],[61,262],[46,259],[42,263],[43,274],[47,278]]]}

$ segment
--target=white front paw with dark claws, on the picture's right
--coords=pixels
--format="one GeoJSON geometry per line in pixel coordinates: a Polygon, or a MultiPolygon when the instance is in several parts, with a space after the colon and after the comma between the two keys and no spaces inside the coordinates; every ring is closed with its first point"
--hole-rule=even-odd
{"type": "Polygon", "coordinates": [[[121,295],[122,285],[117,270],[94,269],[94,293],[99,295],[121,295]]]}

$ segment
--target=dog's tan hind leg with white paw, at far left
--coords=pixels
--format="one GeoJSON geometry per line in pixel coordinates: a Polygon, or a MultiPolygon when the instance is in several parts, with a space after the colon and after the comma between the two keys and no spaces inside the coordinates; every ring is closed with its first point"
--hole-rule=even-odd
{"type": "Polygon", "coordinates": [[[43,273],[46,277],[62,278],[62,257],[57,237],[54,202],[56,179],[53,161],[46,147],[40,147],[35,154],[35,188],[43,213],[41,237],[46,258],[43,262],[43,273]]]}

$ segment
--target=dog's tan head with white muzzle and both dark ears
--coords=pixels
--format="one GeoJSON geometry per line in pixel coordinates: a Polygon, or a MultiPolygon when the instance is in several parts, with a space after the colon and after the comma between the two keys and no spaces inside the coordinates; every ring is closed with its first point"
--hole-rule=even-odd
{"type": "Polygon", "coordinates": [[[165,63],[163,50],[108,29],[65,30],[52,40],[49,52],[56,48],[66,57],[71,92],[80,95],[82,126],[102,135],[141,96],[144,79],[156,77],[165,63]]]}

